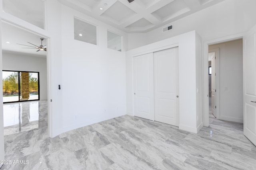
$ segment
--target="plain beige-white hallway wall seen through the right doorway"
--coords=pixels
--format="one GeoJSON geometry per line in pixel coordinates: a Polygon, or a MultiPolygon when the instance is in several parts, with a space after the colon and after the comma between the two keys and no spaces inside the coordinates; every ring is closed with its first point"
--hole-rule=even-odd
{"type": "Polygon", "coordinates": [[[242,44],[242,39],[238,39],[209,45],[209,51],[220,49],[220,119],[239,123],[243,123],[242,44]]]}

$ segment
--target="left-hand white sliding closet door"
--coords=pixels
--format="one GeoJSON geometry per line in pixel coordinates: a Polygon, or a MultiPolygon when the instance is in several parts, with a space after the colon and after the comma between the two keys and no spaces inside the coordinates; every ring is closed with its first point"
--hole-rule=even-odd
{"type": "Polygon", "coordinates": [[[154,120],[153,53],[133,59],[134,115],[154,120]]]}

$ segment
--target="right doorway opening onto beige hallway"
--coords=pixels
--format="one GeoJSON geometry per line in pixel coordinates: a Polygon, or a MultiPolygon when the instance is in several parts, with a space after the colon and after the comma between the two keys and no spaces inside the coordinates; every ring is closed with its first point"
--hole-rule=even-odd
{"type": "MultiPolygon", "coordinates": [[[[207,111],[205,109],[204,116],[208,118],[208,121],[210,117],[243,123],[242,37],[208,43],[207,47],[209,91],[207,111]],[[210,68],[211,74],[209,74],[210,68]]],[[[204,123],[207,125],[205,118],[204,123]]]]}

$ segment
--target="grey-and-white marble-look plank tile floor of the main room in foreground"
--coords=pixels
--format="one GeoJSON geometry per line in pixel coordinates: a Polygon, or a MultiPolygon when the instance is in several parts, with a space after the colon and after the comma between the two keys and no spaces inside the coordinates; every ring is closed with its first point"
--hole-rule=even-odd
{"type": "Polygon", "coordinates": [[[6,135],[1,170],[253,170],[256,146],[243,125],[220,121],[198,134],[124,115],[68,131],[52,139],[46,128],[6,135]],[[212,130],[212,137],[210,137],[212,130]]]}

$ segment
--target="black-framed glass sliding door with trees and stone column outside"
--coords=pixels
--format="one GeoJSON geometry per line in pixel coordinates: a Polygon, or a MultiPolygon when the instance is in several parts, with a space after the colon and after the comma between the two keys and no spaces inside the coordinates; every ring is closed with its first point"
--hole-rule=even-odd
{"type": "Polygon", "coordinates": [[[40,99],[39,72],[3,70],[2,81],[4,103],[40,99]]]}

